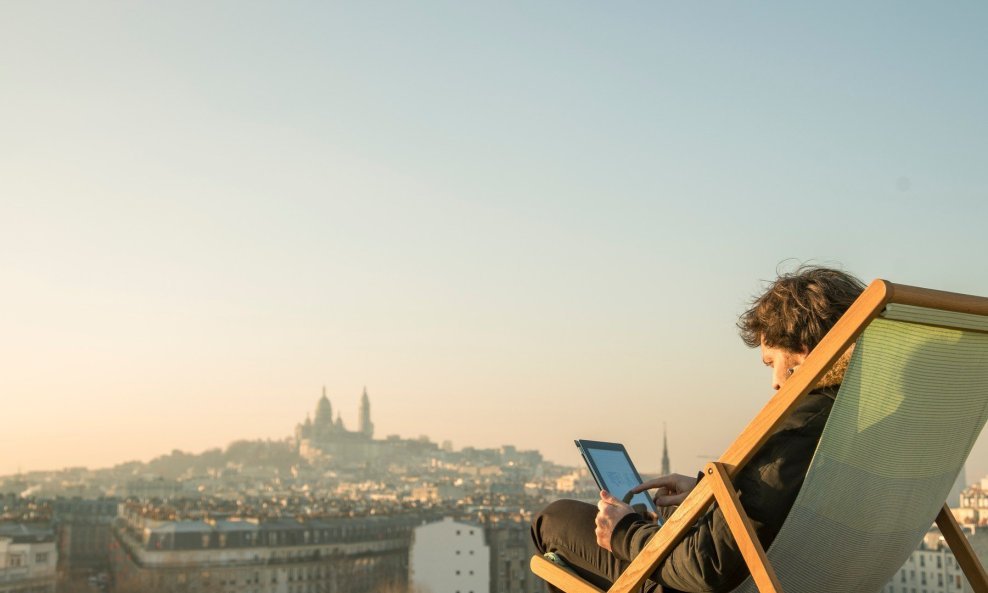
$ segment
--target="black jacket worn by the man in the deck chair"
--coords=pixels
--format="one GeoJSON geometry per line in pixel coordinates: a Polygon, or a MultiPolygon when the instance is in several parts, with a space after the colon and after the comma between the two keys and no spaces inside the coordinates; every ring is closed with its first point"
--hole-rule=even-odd
{"type": "MultiPolygon", "coordinates": [[[[741,505],[766,549],[803,485],[836,395],[836,386],[810,392],[734,478],[741,505]]],[[[630,562],[658,530],[641,515],[627,515],[614,528],[611,550],[630,562]]],[[[704,592],[730,591],[747,577],[737,542],[714,504],[649,578],[664,587],[704,592]]]]}

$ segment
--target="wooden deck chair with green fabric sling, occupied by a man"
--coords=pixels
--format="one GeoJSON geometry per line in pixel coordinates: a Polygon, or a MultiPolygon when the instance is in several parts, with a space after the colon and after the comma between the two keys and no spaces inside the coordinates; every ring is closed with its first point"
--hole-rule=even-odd
{"type": "MultiPolygon", "coordinates": [[[[716,503],[751,576],[735,591],[879,591],[936,522],[977,593],[988,576],[944,504],[988,419],[988,298],[875,280],[649,540],[609,593],[629,593],[716,503]],[[855,344],[803,486],[768,552],[731,485],[855,344]]],[[[567,593],[601,593],[535,556],[567,593]]]]}

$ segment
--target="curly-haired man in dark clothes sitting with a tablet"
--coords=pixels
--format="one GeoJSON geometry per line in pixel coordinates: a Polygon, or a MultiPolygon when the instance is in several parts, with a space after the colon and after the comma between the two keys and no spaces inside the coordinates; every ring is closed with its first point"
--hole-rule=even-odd
{"type": "MultiPolygon", "coordinates": [[[[782,387],[863,290],[864,284],[844,271],[801,266],[781,274],[754,299],[737,325],[744,343],[761,349],[773,389],[782,387]]],[[[733,480],[766,549],[802,486],[850,352],[844,353],[733,480]]],[[[660,513],[668,516],[700,479],[702,473],[695,478],[661,476],[634,491],[656,489],[653,500],[660,513]]],[[[576,500],[549,504],[533,519],[532,538],[540,554],[551,553],[606,590],[659,530],[656,518],[644,517],[602,491],[596,506],[576,500]]],[[[748,574],[723,513],[712,505],[658,564],[642,591],[730,591],[748,574]]]]}

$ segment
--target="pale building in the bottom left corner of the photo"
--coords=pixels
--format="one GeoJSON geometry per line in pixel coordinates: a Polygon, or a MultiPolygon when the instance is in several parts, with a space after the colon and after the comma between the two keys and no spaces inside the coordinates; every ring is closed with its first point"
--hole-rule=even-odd
{"type": "Polygon", "coordinates": [[[51,525],[0,523],[0,593],[55,593],[57,563],[51,525]]]}

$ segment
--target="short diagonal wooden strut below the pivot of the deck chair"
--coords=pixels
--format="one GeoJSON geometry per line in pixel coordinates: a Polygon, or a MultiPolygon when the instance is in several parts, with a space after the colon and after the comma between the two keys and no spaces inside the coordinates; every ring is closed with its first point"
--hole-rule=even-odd
{"type": "Polygon", "coordinates": [[[711,482],[717,505],[724,513],[724,520],[738,543],[738,549],[758,590],[761,593],[782,593],[782,585],[775,576],[775,569],[765,556],[765,549],[758,541],[755,528],[751,526],[751,521],[738,500],[738,493],[731,483],[727,469],[721,463],[708,463],[704,471],[707,473],[705,480],[711,482]]]}

